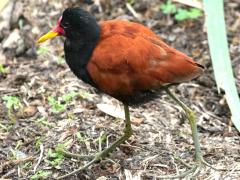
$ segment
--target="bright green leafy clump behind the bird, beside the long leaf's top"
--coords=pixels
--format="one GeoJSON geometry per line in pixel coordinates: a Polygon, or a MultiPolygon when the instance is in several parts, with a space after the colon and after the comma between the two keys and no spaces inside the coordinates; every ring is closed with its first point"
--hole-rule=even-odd
{"type": "Polygon", "coordinates": [[[202,12],[196,8],[190,8],[189,10],[183,8],[177,8],[171,0],[168,0],[166,4],[160,6],[161,11],[164,14],[174,14],[174,18],[177,21],[183,21],[187,19],[197,19],[202,15],[202,12]]]}

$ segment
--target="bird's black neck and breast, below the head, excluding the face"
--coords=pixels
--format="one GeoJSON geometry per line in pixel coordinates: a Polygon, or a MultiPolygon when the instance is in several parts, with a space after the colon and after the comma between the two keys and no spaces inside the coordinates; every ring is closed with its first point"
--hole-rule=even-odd
{"type": "Polygon", "coordinates": [[[86,66],[92,56],[99,36],[100,30],[97,34],[92,34],[92,36],[91,33],[88,35],[82,34],[81,37],[83,38],[81,39],[72,39],[67,37],[64,43],[65,59],[72,72],[85,83],[91,84],[95,87],[96,85],[92,81],[86,66]]]}

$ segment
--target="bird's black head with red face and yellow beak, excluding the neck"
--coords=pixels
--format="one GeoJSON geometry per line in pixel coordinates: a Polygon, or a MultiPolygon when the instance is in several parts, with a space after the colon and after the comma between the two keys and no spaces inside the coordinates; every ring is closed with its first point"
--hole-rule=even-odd
{"type": "Polygon", "coordinates": [[[65,36],[69,40],[96,42],[99,35],[100,27],[94,16],[81,8],[73,7],[65,9],[57,26],[42,36],[38,42],[41,43],[56,36],[65,36]]]}

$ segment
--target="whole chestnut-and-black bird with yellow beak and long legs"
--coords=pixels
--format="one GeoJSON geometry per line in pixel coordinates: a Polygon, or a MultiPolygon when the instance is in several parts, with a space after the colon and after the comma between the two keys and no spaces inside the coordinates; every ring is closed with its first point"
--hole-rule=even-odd
{"type": "Polygon", "coordinates": [[[129,106],[157,98],[161,89],[185,111],[192,129],[196,164],[205,163],[194,113],[168,88],[200,76],[204,71],[201,64],[167,45],[140,23],[120,19],[97,22],[80,7],[65,9],[56,27],[41,36],[38,43],[56,36],[65,37],[65,60],[71,71],[83,82],[122,102],[125,112],[123,136],[84,167],[63,177],[88,168],[129,139],[133,134],[129,106]]]}

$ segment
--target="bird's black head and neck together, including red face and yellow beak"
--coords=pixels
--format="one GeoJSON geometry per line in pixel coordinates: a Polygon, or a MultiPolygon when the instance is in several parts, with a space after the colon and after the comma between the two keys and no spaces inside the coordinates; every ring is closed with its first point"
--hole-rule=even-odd
{"type": "Polygon", "coordinates": [[[95,18],[81,8],[67,8],[50,32],[39,38],[42,43],[56,36],[65,36],[65,59],[72,72],[93,86],[87,63],[100,37],[100,27],[95,18]]]}

